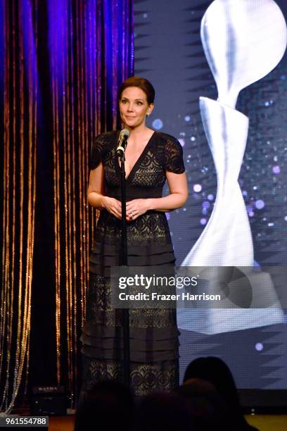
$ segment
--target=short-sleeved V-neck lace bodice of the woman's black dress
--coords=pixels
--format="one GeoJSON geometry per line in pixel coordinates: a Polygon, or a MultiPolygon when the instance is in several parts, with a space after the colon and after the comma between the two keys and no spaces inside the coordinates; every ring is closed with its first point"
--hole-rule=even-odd
{"type": "MultiPolygon", "coordinates": [[[[91,169],[103,162],[106,195],[120,200],[120,165],[116,154],[118,132],[100,135],[91,154],[91,169]]],[[[183,173],[181,145],[173,137],[154,132],[126,180],[127,201],[161,197],[166,171],[183,173]]]]}

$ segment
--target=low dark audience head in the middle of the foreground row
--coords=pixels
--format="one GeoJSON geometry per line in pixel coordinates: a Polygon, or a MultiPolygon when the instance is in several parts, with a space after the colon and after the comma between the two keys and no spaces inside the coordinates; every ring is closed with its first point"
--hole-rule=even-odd
{"type": "Polygon", "coordinates": [[[151,394],[139,406],[136,431],[197,431],[189,404],[175,393],[151,394]]]}

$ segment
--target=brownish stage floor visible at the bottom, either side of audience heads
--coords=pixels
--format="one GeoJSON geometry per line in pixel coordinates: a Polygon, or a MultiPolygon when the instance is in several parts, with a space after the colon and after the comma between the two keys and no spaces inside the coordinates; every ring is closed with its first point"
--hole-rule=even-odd
{"type": "MultiPolygon", "coordinates": [[[[287,415],[246,416],[248,423],[260,431],[286,431],[287,415]]],[[[49,418],[49,431],[73,431],[75,416],[56,416],[49,418]]]]}

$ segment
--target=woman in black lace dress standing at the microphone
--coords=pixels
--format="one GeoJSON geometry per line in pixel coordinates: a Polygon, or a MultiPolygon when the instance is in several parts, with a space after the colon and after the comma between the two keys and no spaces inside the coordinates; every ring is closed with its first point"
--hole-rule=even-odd
{"type": "MultiPolygon", "coordinates": [[[[186,202],[181,145],[146,126],[155,91],[130,77],[118,92],[120,115],[129,129],[125,151],[127,254],[129,266],[174,265],[166,211],[186,202]],[[167,180],[170,194],[162,197],[167,180]]],[[[121,244],[119,132],[96,137],[91,154],[88,201],[101,210],[90,257],[87,321],[82,328],[82,391],[98,380],[123,378],[122,310],[110,306],[110,266],[119,265],[121,244]]],[[[178,385],[178,335],[174,309],[130,309],[130,370],[136,396],[178,385]]],[[[82,392],[82,393],[83,393],[82,392]]]]}

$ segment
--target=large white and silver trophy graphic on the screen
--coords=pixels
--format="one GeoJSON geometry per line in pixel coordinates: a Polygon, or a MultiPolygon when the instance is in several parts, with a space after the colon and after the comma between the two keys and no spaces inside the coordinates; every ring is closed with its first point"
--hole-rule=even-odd
{"type": "MultiPolygon", "coordinates": [[[[248,117],[236,111],[236,101],[241,89],[267,75],[281,60],[287,43],[286,22],[274,0],[215,0],[203,15],[200,37],[218,91],[217,101],[200,97],[203,127],[217,173],[217,197],[205,230],[181,266],[252,267],[253,239],[238,184],[248,117]]],[[[274,304],[276,292],[269,275],[263,280],[261,273],[260,281],[252,278],[248,276],[253,295],[273,295],[274,304]]],[[[224,316],[222,323],[219,310],[206,310],[206,316],[201,311],[200,323],[193,327],[196,311],[190,311],[192,318],[188,311],[180,311],[179,327],[216,333],[271,325],[283,318],[278,304],[270,309],[255,309],[251,304],[250,309],[227,312],[230,316],[224,316]]]]}

